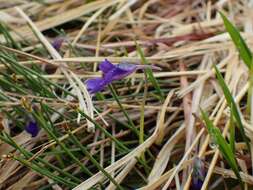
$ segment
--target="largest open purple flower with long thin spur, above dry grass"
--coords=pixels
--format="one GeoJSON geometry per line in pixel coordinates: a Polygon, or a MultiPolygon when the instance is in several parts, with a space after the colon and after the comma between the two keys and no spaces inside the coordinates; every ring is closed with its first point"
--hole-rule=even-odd
{"type": "Polygon", "coordinates": [[[86,81],[86,86],[88,91],[93,94],[103,90],[113,81],[123,79],[136,70],[145,68],[160,69],[159,67],[155,66],[135,65],[131,63],[119,63],[117,65],[113,65],[110,61],[105,59],[99,65],[99,69],[103,72],[103,76],[94,79],[88,79],[86,81]]]}

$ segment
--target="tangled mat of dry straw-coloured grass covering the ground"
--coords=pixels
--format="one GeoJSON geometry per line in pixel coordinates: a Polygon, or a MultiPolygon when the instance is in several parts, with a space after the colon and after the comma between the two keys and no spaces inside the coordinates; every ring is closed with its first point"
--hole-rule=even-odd
{"type": "MultiPolygon", "coordinates": [[[[239,189],[200,120],[200,108],[229,138],[230,105],[216,80],[216,65],[240,108],[252,149],[250,76],[219,15],[223,12],[253,49],[252,9],[246,0],[0,0],[5,27],[0,27],[0,189],[190,190],[196,158],[204,165],[198,169],[205,176],[200,189],[239,189]],[[59,37],[64,41],[55,49],[59,37]],[[102,76],[98,65],[104,59],[146,64],[136,44],[148,64],[161,70],[133,73],[99,95],[89,94],[84,81],[102,76]],[[39,68],[41,78],[11,70],[15,64],[4,55],[22,68],[39,68]],[[55,138],[43,127],[37,137],[22,128],[43,105],[48,108],[38,117],[47,118],[55,138]],[[32,155],[4,141],[4,133],[32,155]]],[[[235,147],[241,180],[250,189],[253,151],[246,150],[237,130],[235,147]]]]}

